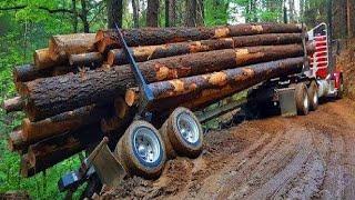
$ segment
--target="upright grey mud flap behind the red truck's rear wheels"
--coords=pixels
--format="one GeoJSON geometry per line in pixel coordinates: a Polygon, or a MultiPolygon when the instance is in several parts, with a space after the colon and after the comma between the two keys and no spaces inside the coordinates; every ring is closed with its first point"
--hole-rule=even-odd
{"type": "Polygon", "coordinates": [[[295,88],[283,88],[276,90],[281,116],[293,117],[297,116],[296,100],[295,100],[295,88]]]}

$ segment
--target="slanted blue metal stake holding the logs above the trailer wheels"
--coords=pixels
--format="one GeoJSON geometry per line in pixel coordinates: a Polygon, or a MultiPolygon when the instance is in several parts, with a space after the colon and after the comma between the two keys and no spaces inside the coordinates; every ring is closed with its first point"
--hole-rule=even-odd
{"type": "Polygon", "coordinates": [[[134,78],[135,78],[135,81],[138,83],[139,91],[140,91],[139,111],[135,116],[135,119],[143,118],[146,121],[151,121],[151,113],[145,112],[145,109],[154,100],[154,94],[153,94],[152,90],[149,88],[149,86],[146,84],[146,81],[145,81],[141,70],[139,69],[139,66],[135,62],[135,60],[132,56],[132,52],[130,51],[130,49],[123,38],[121,29],[119,28],[116,22],[114,22],[114,26],[115,26],[115,30],[118,32],[116,38],[125,52],[126,59],[130,62],[131,70],[134,74],[134,78]]]}

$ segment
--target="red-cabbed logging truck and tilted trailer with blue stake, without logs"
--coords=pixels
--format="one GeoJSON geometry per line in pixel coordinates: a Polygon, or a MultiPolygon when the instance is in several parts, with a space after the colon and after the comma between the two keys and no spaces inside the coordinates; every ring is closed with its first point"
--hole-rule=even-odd
{"type": "Polygon", "coordinates": [[[104,138],[82,162],[79,170],[59,180],[60,191],[71,193],[88,181],[89,187],[85,192],[92,194],[102,186],[118,186],[126,174],[158,178],[168,159],[176,156],[199,157],[202,152],[204,132],[201,123],[233,110],[244,111],[242,113],[245,117],[257,117],[270,109],[277,109],[284,117],[306,116],[317,109],[320,98],[343,96],[343,73],[336,71],[332,61],[327,24],[321,23],[307,32],[308,41],[315,46],[314,53],[307,54],[306,37],[303,39],[305,56],[301,73],[291,76],[287,73],[257,82],[247,89],[245,99],[222,103],[213,110],[192,112],[180,107],[168,119],[164,116],[152,117],[145,111],[145,108],[153,102],[152,91],[128,50],[120,29],[116,31],[118,40],[125,50],[141,91],[136,114],[115,149],[112,151],[108,146],[109,139],[104,138]]]}

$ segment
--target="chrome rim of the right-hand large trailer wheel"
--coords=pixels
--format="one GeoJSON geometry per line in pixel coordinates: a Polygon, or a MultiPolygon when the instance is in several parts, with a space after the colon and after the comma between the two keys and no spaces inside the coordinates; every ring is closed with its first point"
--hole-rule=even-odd
{"type": "Polygon", "coordinates": [[[182,138],[189,143],[196,143],[200,138],[200,130],[196,121],[186,112],[178,117],[178,130],[182,138]]]}

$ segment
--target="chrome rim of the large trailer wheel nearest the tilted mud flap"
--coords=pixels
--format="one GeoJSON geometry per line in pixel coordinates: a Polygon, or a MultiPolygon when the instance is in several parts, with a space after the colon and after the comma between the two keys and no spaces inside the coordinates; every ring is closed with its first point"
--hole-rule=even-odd
{"type": "Polygon", "coordinates": [[[159,159],[160,142],[150,128],[138,128],[134,132],[133,140],[134,150],[144,162],[153,163],[159,159]]]}

